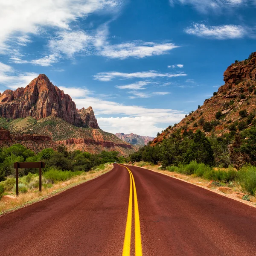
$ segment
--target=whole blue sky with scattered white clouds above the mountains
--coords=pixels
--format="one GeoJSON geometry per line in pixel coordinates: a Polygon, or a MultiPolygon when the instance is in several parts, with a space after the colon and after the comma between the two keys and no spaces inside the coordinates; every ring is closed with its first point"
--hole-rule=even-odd
{"type": "Polygon", "coordinates": [[[256,0],[0,0],[0,92],[44,73],[103,130],[156,136],[256,51],[255,11],[256,0]]]}

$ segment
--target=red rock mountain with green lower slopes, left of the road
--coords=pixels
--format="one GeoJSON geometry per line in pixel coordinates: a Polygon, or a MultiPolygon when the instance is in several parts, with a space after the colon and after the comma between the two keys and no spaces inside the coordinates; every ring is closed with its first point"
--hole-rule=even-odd
{"type": "Polygon", "coordinates": [[[0,94],[0,146],[20,143],[33,151],[57,148],[128,155],[134,149],[102,131],[91,107],[76,109],[69,95],[39,75],[26,88],[0,94]]]}

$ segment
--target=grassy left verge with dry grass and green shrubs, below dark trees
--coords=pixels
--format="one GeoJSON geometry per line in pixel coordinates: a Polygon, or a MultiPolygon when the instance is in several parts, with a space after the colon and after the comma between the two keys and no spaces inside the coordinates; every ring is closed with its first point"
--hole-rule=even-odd
{"type": "Polygon", "coordinates": [[[57,195],[67,189],[99,177],[111,169],[113,169],[113,164],[110,163],[94,167],[89,172],[49,169],[42,175],[42,192],[39,192],[38,174],[29,173],[19,178],[18,197],[15,194],[15,178],[9,177],[0,182],[0,187],[3,188],[2,195],[0,195],[2,197],[0,199],[0,215],[57,195]]]}

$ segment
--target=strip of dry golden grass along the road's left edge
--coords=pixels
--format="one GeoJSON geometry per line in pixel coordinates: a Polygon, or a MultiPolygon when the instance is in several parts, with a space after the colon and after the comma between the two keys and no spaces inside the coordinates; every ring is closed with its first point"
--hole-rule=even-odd
{"type": "MultiPolygon", "coordinates": [[[[39,192],[39,189],[29,189],[27,193],[20,193],[15,199],[7,200],[6,198],[3,198],[0,201],[0,215],[52,197],[53,195],[109,172],[111,169],[113,169],[113,166],[107,165],[103,170],[84,172],[82,175],[72,177],[70,180],[55,183],[51,188],[44,188],[42,186],[42,192],[39,192]]],[[[15,193],[13,191],[9,191],[8,195],[15,196],[15,193]]]]}

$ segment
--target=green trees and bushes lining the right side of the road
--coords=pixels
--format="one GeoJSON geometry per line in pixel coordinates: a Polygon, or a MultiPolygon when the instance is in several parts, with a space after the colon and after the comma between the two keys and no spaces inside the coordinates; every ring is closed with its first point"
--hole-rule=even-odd
{"type": "MultiPolygon", "coordinates": [[[[150,146],[150,143],[130,155],[132,163],[137,166],[161,165],[162,170],[181,175],[192,175],[204,180],[214,180],[215,185],[236,187],[242,192],[256,195],[256,128],[245,130],[240,137],[239,147],[235,153],[247,152],[247,162],[238,170],[233,168],[231,161],[230,136],[207,138],[198,130],[177,130],[161,144],[150,146]]],[[[245,163],[245,162],[243,162],[245,163]]]]}

